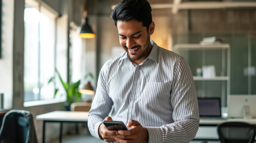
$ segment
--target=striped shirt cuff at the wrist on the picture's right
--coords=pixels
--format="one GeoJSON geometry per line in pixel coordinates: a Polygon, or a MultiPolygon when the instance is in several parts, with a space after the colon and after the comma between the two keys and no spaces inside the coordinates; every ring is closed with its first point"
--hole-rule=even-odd
{"type": "Polygon", "coordinates": [[[161,142],[161,131],[157,127],[145,127],[149,134],[149,143],[161,142]]]}

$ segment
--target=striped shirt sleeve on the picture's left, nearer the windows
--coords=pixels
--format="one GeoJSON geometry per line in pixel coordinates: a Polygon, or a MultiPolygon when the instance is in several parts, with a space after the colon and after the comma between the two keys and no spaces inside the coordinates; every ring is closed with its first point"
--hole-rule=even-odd
{"type": "Polygon", "coordinates": [[[109,91],[107,90],[106,72],[104,72],[104,69],[106,69],[106,65],[100,71],[97,91],[95,92],[95,98],[92,101],[91,110],[88,114],[88,127],[91,135],[95,138],[100,138],[98,128],[104,118],[109,115],[113,105],[113,101],[109,97],[109,91]]]}

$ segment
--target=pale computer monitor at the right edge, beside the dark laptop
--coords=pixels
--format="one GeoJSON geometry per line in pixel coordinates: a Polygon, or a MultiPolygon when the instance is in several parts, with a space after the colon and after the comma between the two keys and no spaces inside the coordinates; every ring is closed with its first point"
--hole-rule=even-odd
{"type": "Polygon", "coordinates": [[[227,117],[256,117],[256,95],[229,95],[227,101],[227,117]]]}

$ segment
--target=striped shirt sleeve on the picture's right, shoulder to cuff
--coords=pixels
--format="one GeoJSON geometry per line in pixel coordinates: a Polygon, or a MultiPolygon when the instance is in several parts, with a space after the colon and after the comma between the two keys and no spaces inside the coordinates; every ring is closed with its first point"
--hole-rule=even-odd
{"type": "Polygon", "coordinates": [[[146,127],[149,142],[190,142],[199,127],[198,101],[189,65],[181,57],[174,67],[171,91],[173,123],[161,127],[146,127]]]}

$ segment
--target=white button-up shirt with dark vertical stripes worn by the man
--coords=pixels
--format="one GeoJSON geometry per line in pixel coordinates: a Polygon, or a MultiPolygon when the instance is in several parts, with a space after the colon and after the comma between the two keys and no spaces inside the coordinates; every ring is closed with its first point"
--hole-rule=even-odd
{"type": "Polygon", "coordinates": [[[139,65],[123,52],[102,67],[88,116],[92,136],[113,106],[112,119],[127,125],[137,120],[149,133],[149,142],[189,142],[198,131],[195,83],[183,57],[152,44],[139,65]]]}

